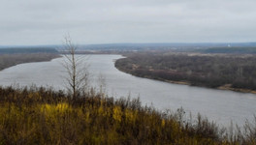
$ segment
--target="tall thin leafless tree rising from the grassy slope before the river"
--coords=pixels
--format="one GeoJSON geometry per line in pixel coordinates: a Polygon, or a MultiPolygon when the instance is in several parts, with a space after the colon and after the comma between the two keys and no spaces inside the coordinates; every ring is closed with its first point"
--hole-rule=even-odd
{"type": "Polygon", "coordinates": [[[67,81],[67,89],[72,94],[73,99],[79,97],[81,92],[85,92],[88,87],[88,65],[86,63],[87,58],[84,55],[75,55],[78,46],[72,43],[70,36],[64,37],[64,62],[67,81]]]}

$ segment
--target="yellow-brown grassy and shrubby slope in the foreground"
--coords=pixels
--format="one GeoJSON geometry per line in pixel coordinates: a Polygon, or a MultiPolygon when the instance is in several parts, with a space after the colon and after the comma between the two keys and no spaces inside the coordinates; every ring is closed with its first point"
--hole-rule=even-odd
{"type": "Polygon", "coordinates": [[[160,113],[139,100],[82,93],[72,100],[46,88],[0,88],[0,145],[4,144],[256,144],[256,129],[228,134],[183,111],[160,113]]]}

